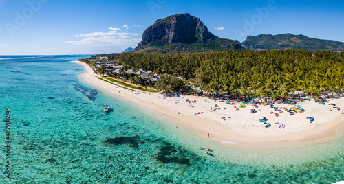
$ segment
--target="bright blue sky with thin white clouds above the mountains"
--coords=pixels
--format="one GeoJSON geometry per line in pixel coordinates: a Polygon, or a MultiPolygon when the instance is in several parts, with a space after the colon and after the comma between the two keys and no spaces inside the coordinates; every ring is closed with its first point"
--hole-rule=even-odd
{"type": "Polygon", "coordinates": [[[186,12],[216,36],[241,42],[284,33],[344,42],[341,0],[0,0],[0,55],[121,52],[157,19],[186,12]]]}

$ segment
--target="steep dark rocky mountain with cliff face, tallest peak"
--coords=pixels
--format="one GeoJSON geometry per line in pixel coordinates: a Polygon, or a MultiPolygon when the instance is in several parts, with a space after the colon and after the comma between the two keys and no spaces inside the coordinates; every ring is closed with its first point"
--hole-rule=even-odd
{"type": "Polygon", "coordinates": [[[182,53],[244,49],[239,41],[219,38],[199,18],[177,14],[158,19],[142,35],[134,52],[182,53]]]}

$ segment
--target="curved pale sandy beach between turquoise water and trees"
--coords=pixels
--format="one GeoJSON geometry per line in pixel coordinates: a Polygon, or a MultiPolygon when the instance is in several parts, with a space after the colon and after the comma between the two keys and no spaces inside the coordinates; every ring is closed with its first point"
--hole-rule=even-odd
{"type": "MultiPolygon", "coordinates": [[[[183,96],[175,101],[173,99],[177,99],[176,97],[164,98],[160,93],[137,93],[136,91],[116,87],[113,84],[99,80],[99,75],[94,73],[93,67],[85,62],[72,62],[83,65],[85,72],[80,77],[86,82],[94,84],[111,95],[116,95],[136,106],[170,119],[175,123],[171,126],[186,128],[191,133],[223,146],[236,148],[290,148],[325,143],[344,135],[343,110],[334,111],[333,109],[333,111],[328,111],[328,106],[315,104],[312,101],[301,102],[301,106],[305,108],[305,113],[297,113],[294,116],[287,116],[285,112],[281,114],[281,117],[274,117],[269,114],[271,111],[270,106],[259,106],[257,108],[258,113],[250,115],[249,108],[253,107],[233,111],[233,106],[226,106],[224,103],[208,100],[208,97],[183,96]],[[197,103],[190,105],[184,102],[186,98],[195,99],[197,103]],[[219,104],[222,110],[212,111],[210,108],[212,104],[219,104]],[[327,109],[327,113],[325,113],[325,109],[327,109]],[[197,112],[204,113],[194,115],[197,112]],[[264,124],[257,121],[257,118],[261,118],[261,115],[268,117],[272,122],[283,122],[286,124],[286,128],[279,129],[275,123],[272,124],[271,122],[273,128],[265,128],[264,124]],[[316,117],[316,122],[313,124],[306,122],[308,120],[304,118],[308,115],[316,117]],[[231,116],[231,118],[224,121],[220,119],[222,116],[231,116]],[[211,138],[208,138],[208,133],[211,138]]],[[[333,101],[338,106],[344,105],[343,98],[333,101]]],[[[286,106],[285,104],[281,105],[286,106]]]]}

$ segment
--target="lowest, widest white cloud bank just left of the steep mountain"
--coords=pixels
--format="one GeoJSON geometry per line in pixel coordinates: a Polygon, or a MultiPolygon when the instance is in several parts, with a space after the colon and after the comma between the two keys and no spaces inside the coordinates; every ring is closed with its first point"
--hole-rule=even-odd
{"type": "Polygon", "coordinates": [[[140,43],[141,39],[131,38],[116,38],[116,36],[102,36],[102,37],[88,37],[80,41],[67,41],[74,45],[91,45],[91,46],[108,46],[108,45],[132,45],[133,43],[140,43]]]}

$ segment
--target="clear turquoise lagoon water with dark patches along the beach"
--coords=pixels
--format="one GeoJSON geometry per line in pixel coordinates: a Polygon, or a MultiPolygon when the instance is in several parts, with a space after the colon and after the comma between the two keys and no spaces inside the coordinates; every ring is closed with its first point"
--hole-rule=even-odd
{"type": "MultiPolygon", "coordinates": [[[[78,80],[83,67],[69,61],[86,57],[0,57],[0,116],[4,119],[4,109],[10,107],[12,117],[12,179],[1,174],[0,183],[344,180],[343,137],[273,150],[217,145],[78,80]],[[110,113],[103,112],[105,104],[110,113]],[[204,154],[202,147],[212,148],[215,157],[204,154]]],[[[3,173],[8,161],[4,132],[0,138],[3,173]]]]}

